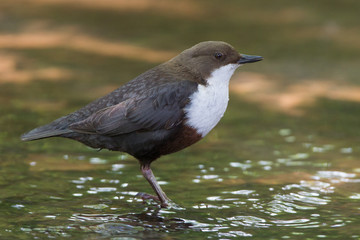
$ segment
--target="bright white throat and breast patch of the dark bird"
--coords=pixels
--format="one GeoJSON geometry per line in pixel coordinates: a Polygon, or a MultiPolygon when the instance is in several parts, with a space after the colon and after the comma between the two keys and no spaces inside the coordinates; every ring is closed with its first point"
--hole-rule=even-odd
{"type": "Polygon", "coordinates": [[[229,81],[238,64],[228,64],[216,69],[207,80],[199,84],[198,90],[190,96],[185,108],[187,125],[203,137],[213,129],[225,113],[229,101],[229,81]]]}

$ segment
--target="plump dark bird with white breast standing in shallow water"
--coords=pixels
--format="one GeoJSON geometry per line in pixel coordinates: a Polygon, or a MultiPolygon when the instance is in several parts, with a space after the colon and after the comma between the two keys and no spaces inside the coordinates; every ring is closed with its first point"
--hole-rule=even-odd
{"type": "Polygon", "coordinates": [[[225,113],[234,71],[262,59],[240,54],[226,42],[200,42],[21,140],[62,137],[128,153],[139,161],[156,193],[139,196],[169,207],[172,201],[157,183],[151,163],[205,137],[225,113]]]}

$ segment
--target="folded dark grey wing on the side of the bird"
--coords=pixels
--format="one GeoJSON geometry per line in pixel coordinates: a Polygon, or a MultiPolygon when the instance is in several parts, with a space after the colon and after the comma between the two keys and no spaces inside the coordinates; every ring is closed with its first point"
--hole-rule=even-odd
{"type": "Polygon", "coordinates": [[[171,129],[183,121],[183,108],[196,87],[197,83],[190,81],[163,84],[142,96],[101,109],[83,121],[71,124],[70,129],[106,136],[171,129]]]}

